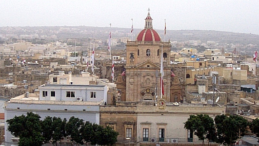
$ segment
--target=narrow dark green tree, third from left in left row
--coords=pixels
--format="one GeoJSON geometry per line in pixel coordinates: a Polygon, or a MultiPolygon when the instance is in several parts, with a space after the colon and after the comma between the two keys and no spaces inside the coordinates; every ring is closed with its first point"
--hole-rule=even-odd
{"type": "Polygon", "coordinates": [[[72,116],[66,124],[66,134],[69,137],[70,141],[76,142],[80,145],[83,145],[83,137],[82,137],[82,128],[84,122],[82,119],[75,118],[72,116]]]}

